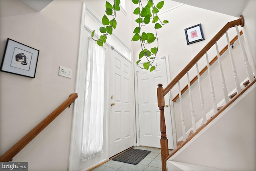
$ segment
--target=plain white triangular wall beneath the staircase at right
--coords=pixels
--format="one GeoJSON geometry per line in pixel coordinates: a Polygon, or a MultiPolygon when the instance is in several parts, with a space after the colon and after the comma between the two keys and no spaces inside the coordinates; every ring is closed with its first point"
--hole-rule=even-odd
{"type": "Polygon", "coordinates": [[[256,170],[256,84],[170,160],[232,171],[256,170]]]}

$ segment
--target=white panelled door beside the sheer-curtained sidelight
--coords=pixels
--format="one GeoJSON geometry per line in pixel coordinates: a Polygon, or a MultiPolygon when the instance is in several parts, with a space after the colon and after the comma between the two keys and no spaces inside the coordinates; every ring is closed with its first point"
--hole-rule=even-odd
{"type": "Polygon", "coordinates": [[[132,62],[110,50],[108,156],[134,145],[132,62]]]}

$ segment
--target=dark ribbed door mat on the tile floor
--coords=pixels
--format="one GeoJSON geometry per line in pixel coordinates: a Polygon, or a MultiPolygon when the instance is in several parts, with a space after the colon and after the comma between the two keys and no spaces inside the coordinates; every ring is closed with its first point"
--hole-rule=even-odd
{"type": "Polygon", "coordinates": [[[112,160],[136,165],[140,163],[140,161],[142,161],[142,159],[144,159],[144,157],[146,157],[150,152],[151,151],[148,150],[129,149],[112,160]]]}

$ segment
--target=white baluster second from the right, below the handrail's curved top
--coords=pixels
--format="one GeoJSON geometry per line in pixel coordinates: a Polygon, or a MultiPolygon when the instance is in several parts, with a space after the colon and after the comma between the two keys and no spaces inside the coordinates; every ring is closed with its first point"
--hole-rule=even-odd
{"type": "Polygon", "coordinates": [[[236,33],[237,33],[237,36],[238,36],[238,40],[239,40],[239,43],[240,43],[242,54],[244,56],[244,64],[245,64],[245,67],[246,67],[246,70],[247,70],[249,82],[251,83],[252,80],[254,80],[254,76],[252,74],[252,68],[251,68],[251,66],[249,64],[249,61],[248,61],[248,58],[246,56],[246,53],[245,53],[245,50],[244,50],[244,44],[243,44],[243,42],[241,40],[241,35],[240,35],[240,32],[238,30],[238,26],[237,25],[236,25],[236,33]]]}

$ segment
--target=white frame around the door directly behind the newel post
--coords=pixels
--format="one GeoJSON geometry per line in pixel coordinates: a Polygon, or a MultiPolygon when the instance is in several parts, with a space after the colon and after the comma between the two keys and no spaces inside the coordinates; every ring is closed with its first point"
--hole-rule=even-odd
{"type": "MultiPolygon", "coordinates": [[[[167,75],[167,82],[170,83],[171,81],[171,76],[170,76],[170,64],[169,64],[169,59],[168,59],[168,55],[164,55],[164,56],[161,56],[161,57],[158,57],[158,58],[162,58],[162,59],[165,59],[165,63],[166,63],[166,75],[167,75]]],[[[140,146],[140,119],[139,119],[139,103],[138,103],[138,80],[136,78],[137,76],[137,64],[134,63],[134,80],[135,80],[135,102],[136,102],[136,136],[137,136],[137,145],[140,146]]],[[[157,86],[157,85],[156,85],[157,86]]],[[[167,85],[166,85],[167,86],[167,85]]],[[[172,110],[173,110],[173,105],[172,105],[172,91],[170,91],[169,94],[169,101],[170,101],[170,113],[171,113],[171,119],[172,119],[172,129],[175,127],[175,124],[173,125],[173,121],[175,121],[174,119],[174,115],[172,115],[172,110]]],[[[160,131],[160,130],[159,130],[160,131]]],[[[168,137],[167,137],[168,138],[168,137]]],[[[173,137],[173,141],[176,141],[176,138],[173,137]]],[[[175,145],[176,143],[174,143],[175,145]]]]}

